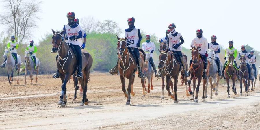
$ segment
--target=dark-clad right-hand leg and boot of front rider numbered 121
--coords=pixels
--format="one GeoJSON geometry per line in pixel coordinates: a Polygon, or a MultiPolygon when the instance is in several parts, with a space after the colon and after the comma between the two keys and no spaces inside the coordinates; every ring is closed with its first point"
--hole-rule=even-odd
{"type": "Polygon", "coordinates": [[[78,77],[78,78],[82,78],[82,77],[83,77],[83,73],[81,72],[81,69],[82,69],[82,53],[81,53],[81,47],[79,47],[79,45],[73,45],[73,47],[75,48],[75,51],[76,51],[76,53],[77,53],[77,66],[78,66],[77,77],[78,77]]]}

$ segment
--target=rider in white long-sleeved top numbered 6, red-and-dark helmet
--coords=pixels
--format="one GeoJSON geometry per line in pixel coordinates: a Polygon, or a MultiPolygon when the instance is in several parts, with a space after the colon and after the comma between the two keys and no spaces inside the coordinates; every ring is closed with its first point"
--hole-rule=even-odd
{"type": "MultiPolygon", "coordinates": [[[[207,61],[207,57],[208,57],[208,49],[209,49],[209,44],[208,41],[205,37],[203,37],[203,32],[202,29],[198,29],[196,31],[197,37],[194,38],[191,42],[191,47],[198,47],[198,51],[199,53],[202,55],[203,57],[203,61],[204,61],[204,68],[203,68],[203,75],[202,77],[204,79],[207,79],[206,76],[206,69],[207,69],[207,65],[208,65],[208,61],[207,61]]],[[[190,60],[190,66],[191,66],[192,60],[190,60]]],[[[189,71],[190,74],[190,71],[189,71]]]]}

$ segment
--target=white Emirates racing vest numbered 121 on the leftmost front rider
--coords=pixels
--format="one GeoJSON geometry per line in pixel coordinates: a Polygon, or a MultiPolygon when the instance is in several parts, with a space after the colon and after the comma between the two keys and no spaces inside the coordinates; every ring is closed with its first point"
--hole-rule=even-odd
{"type": "MultiPolygon", "coordinates": [[[[65,25],[65,29],[66,29],[66,34],[67,34],[67,36],[68,36],[68,40],[66,40],[66,41],[69,42],[69,43],[72,43],[73,45],[78,45],[78,46],[81,47],[81,45],[82,45],[82,40],[81,40],[81,38],[79,38],[79,39],[74,38],[74,39],[72,39],[72,40],[69,39],[70,36],[73,36],[73,35],[76,35],[76,36],[77,36],[77,35],[79,35],[78,32],[79,32],[80,30],[82,30],[82,29],[81,29],[81,26],[78,25],[78,26],[75,27],[75,28],[71,28],[71,27],[67,24],[67,25],[65,25]]],[[[82,34],[83,34],[83,32],[82,32],[82,34]]],[[[82,36],[82,37],[83,37],[83,36],[82,36]]]]}

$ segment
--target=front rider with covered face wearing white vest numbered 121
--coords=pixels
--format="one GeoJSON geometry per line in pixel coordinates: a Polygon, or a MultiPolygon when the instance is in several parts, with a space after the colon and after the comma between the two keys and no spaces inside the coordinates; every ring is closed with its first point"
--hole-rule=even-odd
{"type": "MultiPolygon", "coordinates": [[[[64,31],[64,36],[65,39],[68,41],[68,43],[73,44],[73,47],[75,49],[76,59],[77,59],[77,66],[78,66],[78,73],[77,73],[77,78],[82,78],[83,73],[81,72],[82,69],[82,53],[81,53],[81,47],[84,49],[85,47],[85,42],[82,44],[82,29],[81,26],[77,23],[75,23],[75,13],[74,12],[68,12],[67,13],[67,19],[68,19],[68,24],[64,25],[63,30],[64,31]]],[[[57,60],[57,57],[56,57],[57,60]]],[[[53,78],[59,78],[59,70],[57,70],[57,73],[53,75],[53,78]]]]}

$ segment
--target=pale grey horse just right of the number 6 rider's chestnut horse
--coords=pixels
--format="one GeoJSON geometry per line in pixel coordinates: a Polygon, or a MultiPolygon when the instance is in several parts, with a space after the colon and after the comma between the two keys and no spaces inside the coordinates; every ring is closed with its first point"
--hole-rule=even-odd
{"type": "MultiPolygon", "coordinates": [[[[220,76],[218,75],[218,65],[216,63],[215,56],[216,54],[214,53],[215,49],[209,49],[208,50],[208,67],[210,69],[207,69],[207,83],[206,83],[206,92],[205,95],[207,95],[207,88],[208,88],[208,81],[210,83],[210,88],[211,88],[211,94],[210,94],[210,99],[212,98],[212,91],[215,91],[215,95],[218,95],[218,85],[220,81],[220,76]],[[212,84],[212,79],[213,79],[213,84],[212,84]],[[216,82],[217,81],[217,82],[216,82]]],[[[222,68],[222,63],[220,61],[220,68],[222,68]]],[[[222,70],[220,70],[222,71],[222,70]]]]}

